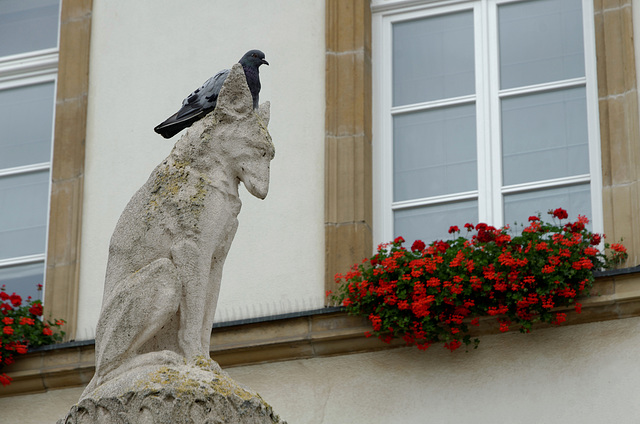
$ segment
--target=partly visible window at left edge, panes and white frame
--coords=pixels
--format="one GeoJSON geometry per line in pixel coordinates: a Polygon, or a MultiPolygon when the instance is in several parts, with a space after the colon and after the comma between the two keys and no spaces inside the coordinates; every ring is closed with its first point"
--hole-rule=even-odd
{"type": "Polygon", "coordinates": [[[59,0],[0,0],[0,285],[42,299],[59,0]]]}

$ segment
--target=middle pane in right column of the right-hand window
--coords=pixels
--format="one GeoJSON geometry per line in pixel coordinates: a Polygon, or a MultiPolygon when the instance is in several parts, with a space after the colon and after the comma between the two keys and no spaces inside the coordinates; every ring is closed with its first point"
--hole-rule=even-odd
{"type": "Polygon", "coordinates": [[[504,184],[589,173],[585,89],[502,101],[504,184]]]}

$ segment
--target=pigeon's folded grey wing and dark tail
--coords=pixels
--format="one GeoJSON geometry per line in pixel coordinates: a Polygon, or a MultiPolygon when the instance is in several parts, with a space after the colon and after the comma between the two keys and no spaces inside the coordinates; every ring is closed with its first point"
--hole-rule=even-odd
{"type": "Polygon", "coordinates": [[[216,107],[222,84],[229,75],[229,69],[223,69],[202,84],[202,87],[189,94],[182,101],[179,111],[154,128],[165,138],[171,138],[184,128],[211,112],[216,107]]]}

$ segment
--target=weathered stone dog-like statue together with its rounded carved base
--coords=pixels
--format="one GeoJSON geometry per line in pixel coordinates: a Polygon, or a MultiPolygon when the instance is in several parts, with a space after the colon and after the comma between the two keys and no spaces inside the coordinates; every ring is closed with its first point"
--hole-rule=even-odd
{"type": "MultiPolygon", "coordinates": [[[[268,123],[269,103],[253,110],[236,64],[215,110],[181,137],[129,201],[109,246],[96,372],[63,422],[94,422],[99,414],[146,422],[143,410],[155,414],[150,422],[198,422],[180,417],[202,405],[209,415],[195,414],[203,420],[281,422],[209,357],[222,267],[238,227],[239,183],[260,199],[269,190],[275,150],[268,123]],[[149,397],[160,404],[145,409],[149,397]],[[211,415],[215,407],[227,409],[211,415]],[[245,418],[225,418],[229,408],[245,418]]],[[[120,422],[110,419],[96,422],[120,422]]]]}

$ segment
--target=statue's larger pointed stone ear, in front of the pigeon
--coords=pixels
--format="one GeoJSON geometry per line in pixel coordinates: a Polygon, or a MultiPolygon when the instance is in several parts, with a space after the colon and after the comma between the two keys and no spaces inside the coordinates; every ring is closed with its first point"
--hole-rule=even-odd
{"type": "Polygon", "coordinates": [[[244,76],[242,65],[236,63],[231,68],[222,85],[214,114],[219,121],[225,121],[238,115],[246,115],[253,109],[253,99],[244,76]]]}

